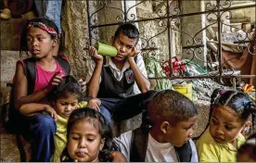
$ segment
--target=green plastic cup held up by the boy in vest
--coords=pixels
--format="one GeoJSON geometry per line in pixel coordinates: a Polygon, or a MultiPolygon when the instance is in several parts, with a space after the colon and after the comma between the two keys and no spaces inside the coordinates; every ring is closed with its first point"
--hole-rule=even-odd
{"type": "Polygon", "coordinates": [[[109,44],[97,42],[95,46],[97,53],[102,56],[117,56],[118,54],[117,49],[109,44]]]}

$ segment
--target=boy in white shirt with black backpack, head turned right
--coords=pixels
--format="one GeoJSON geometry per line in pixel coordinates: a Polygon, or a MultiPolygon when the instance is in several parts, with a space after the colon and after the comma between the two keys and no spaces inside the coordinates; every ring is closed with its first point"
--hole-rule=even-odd
{"type": "Polygon", "coordinates": [[[115,141],[127,161],[198,162],[191,140],[198,110],[183,94],[164,90],[147,104],[151,129],[140,127],[123,133],[115,141]]]}

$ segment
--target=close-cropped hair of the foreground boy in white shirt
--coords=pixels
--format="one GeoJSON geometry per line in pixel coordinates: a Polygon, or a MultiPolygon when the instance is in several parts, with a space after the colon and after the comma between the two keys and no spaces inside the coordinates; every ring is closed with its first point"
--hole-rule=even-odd
{"type": "Polygon", "coordinates": [[[194,103],[184,94],[173,90],[163,90],[156,94],[148,104],[149,119],[164,119],[175,125],[176,122],[187,120],[198,115],[194,103]]]}

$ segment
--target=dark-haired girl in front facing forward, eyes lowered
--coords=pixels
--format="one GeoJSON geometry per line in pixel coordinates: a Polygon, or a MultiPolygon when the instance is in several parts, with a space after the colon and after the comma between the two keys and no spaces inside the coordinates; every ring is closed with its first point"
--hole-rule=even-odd
{"type": "Polygon", "coordinates": [[[95,109],[74,110],[67,130],[68,145],[60,157],[61,161],[113,161],[110,151],[117,147],[112,143],[109,121],[95,109]]]}

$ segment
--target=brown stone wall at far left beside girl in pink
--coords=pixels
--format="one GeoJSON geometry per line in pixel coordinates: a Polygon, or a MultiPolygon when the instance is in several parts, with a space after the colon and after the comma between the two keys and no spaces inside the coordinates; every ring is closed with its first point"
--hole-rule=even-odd
{"type": "Polygon", "coordinates": [[[19,39],[21,28],[26,19],[0,19],[0,56],[1,56],[1,100],[3,104],[7,101],[8,89],[6,82],[11,82],[15,74],[16,62],[19,60],[19,39]]]}

